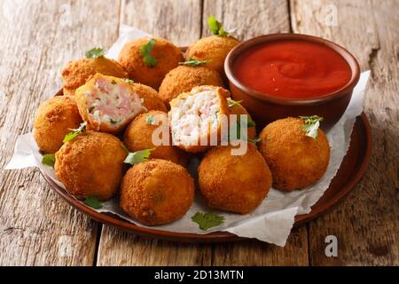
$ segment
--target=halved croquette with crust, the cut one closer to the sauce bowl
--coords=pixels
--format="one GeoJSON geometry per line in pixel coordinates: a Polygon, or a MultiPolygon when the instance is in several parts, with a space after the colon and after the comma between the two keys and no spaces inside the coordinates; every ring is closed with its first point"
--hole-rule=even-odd
{"type": "MultiPolygon", "coordinates": [[[[173,144],[187,152],[206,151],[221,141],[223,115],[230,114],[230,92],[221,87],[200,86],[170,102],[168,113],[173,144]]],[[[227,129],[227,126],[225,127],[227,129]]]]}

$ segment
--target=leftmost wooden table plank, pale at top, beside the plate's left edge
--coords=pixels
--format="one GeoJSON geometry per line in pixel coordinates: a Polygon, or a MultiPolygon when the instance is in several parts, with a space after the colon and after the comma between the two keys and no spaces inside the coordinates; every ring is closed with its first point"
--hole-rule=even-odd
{"type": "MultiPolygon", "coordinates": [[[[117,36],[119,1],[0,2],[0,168],[60,70],[117,36]]],[[[0,264],[91,265],[98,225],[51,190],[39,170],[0,171],[0,264]]]]}

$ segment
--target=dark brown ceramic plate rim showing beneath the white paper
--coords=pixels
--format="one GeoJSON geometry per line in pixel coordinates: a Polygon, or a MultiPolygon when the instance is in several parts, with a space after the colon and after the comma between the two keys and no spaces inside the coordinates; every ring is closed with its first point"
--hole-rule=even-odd
{"type": "MultiPolygon", "coordinates": [[[[57,95],[61,95],[59,91],[57,95]]],[[[355,185],[364,176],[367,169],[370,155],[372,152],[372,132],[370,124],[365,114],[356,118],[356,123],[352,131],[352,138],[348,153],[340,165],[337,175],[332,179],[330,187],[325,191],[323,197],[313,205],[309,214],[299,215],[295,217],[294,225],[301,225],[309,220],[312,220],[321,214],[331,209],[334,204],[340,201],[346,194],[348,194],[355,185]]],[[[134,225],[128,221],[117,217],[111,213],[98,213],[90,207],[76,201],[64,189],[56,185],[51,178],[44,172],[43,176],[51,187],[61,195],[74,208],[82,211],[84,214],[106,225],[111,225],[125,231],[136,233],[138,235],[149,236],[170,241],[184,241],[184,242],[222,242],[222,241],[242,241],[246,238],[238,237],[232,233],[215,232],[207,234],[197,233],[173,233],[167,231],[160,231],[153,228],[145,228],[134,225]]]]}

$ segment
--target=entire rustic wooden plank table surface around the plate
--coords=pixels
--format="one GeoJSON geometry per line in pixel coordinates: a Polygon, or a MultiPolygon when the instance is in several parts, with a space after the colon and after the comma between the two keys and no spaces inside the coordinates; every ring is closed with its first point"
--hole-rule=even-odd
{"type": "Polygon", "coordinates": [[[39,170],[0,171],[3,265],[386,265],[399,264],[399,2],[395,0],[0,1],[0,169],[35,109],[60,85],[60,70],[121,24],[178,45],[207,36],[209,14],[240,39],[278,32],[323,36],[371,69],[364,112],[372,124],[369,170],[323,217],[295,228],[285,248],[259,241],[182,244],[101,225],[72,209],[39,170]],[[336,17],[334,16],[336,12],[336,17]],[[325,256],[325,237],[338,257],[325,256]]]}

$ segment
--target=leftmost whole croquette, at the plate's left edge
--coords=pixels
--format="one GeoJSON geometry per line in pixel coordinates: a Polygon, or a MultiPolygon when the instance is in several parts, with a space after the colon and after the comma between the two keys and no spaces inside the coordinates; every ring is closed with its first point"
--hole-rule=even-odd
{"type": "Polygon", "coordinates": [[[37,146],[45,154],[54,154],[71,129],[82,123],[74,97],[56,96],[39,106],[35,114],[34,136],[37,146]]]}

